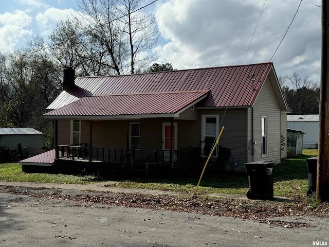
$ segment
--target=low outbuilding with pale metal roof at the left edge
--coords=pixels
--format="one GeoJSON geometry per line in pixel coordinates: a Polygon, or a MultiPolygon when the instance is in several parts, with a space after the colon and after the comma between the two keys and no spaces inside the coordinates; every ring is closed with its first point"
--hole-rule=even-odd
{"type": "Polygon", "coordinates": [[[42,153],[42,132],[33,128],[0,128],[0,149],[28,156],[42,153]]]}

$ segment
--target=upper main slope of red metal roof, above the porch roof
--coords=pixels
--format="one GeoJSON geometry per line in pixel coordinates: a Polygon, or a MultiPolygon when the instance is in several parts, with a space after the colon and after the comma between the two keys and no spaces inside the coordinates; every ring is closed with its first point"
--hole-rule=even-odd
{"type": "Polygon", "coordinates": [[[79,77],[76,87],[63,92],[47,109],[58,109],[90,95],[210,90],[205,107],[241,107],[253,104],[272,63],[173,70],[144,74],[79,77]]]}

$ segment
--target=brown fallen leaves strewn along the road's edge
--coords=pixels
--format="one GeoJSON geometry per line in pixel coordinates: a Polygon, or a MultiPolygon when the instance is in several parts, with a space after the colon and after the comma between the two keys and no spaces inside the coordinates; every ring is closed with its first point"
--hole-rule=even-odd
{"type": "MultiPolygon", "coordinates": [[[[227,216],[241,219],[258,220],[275,226],[286,228],[310,227],[303,223],[277,222],[262,220],[273,217],[316,215],[329,217],[329,204],[321,203],[317,208],[309,209],[303,201],[276,202],[256,201],[231,198],[198,198],[189,195],[149,195],[144,193],[113,193],[86,191],[74,193],[54,189],[31,189],[20,186],[0,186],[0,191],[26,195],[35,198],[59,199],[62,202],[77,202],[74,206],[100,207],[100,205],[115,205],[120,207],[150,208],[154,210],[170,210],[204,215],[227,216]]],[[[63,206],[63,205],[54,205],[63,206]]],[[[145,219],[146,220],[146,219],[145,219]]],[[[148,219],[149,220],[149,219],[148,219]]],[[[160,222],[159,224],[164,224],[160,222]]],[[[224,233],[225,234],[225,233],[224,233]]]]}

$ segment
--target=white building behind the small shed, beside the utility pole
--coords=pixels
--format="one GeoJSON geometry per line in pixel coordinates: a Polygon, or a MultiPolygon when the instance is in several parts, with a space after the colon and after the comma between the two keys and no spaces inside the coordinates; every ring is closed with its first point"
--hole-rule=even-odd
{"type": "Polygon", "coordinates": [[[305,132],[303,149],[318,148],[319,114],[287,115],[287,128],[305,132]]]}

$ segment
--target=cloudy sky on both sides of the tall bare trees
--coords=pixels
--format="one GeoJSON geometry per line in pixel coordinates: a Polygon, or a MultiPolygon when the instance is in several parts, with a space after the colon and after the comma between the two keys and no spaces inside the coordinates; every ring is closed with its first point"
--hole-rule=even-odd
{"type": "MultiPolygon", "coordinates": [[[[303,0],[287,31],[300,2],[158,0],[144,9],[160,31],[155,62],[188,69],[271,61],[278,77],[297,72],[320,82],[321,0],[303,0]]],[[[1,0],[0,50],[19,49],[36,35],[47,40],[56,22],[76,10],[76,0],[1,0]]]]}

